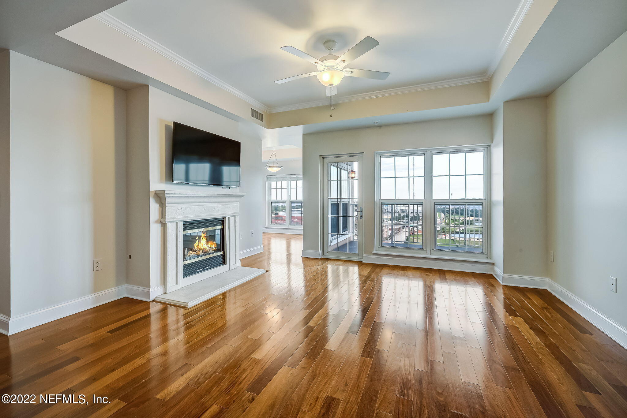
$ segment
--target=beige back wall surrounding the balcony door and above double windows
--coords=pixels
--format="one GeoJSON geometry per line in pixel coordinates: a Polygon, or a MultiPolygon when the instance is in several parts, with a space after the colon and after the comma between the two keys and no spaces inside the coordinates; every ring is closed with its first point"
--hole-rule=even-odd
{"type": "Polygon", "coordinates": [[[303,135],[303,249],[321,251],[320,156],[363,152],[364,254],[374,249],[375,152],[490,144],[492,117],[482,115],[303,135]]]}

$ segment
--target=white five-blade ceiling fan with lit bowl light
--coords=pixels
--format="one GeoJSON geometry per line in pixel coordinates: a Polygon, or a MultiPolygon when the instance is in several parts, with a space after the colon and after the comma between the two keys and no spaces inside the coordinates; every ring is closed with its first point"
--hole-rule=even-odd
{"type": "Polygon", "coordinates": [[[313,56],[297,50],[293,46],[283,46],[281,49],[287,51],[290,54],[296,55],[303,60],[307,60],[314,64],[318,71],[312,71],[311,73],[305,73],[301,75],[295,75],[293,77],[283,78],[283,80],[277,80],[275,83],[282,84],[287,81],[298,80],[298,78],[305,78],[315,75],[322,85],[327,88],[327,96],[332,96],[337,93],[336,86],[342,81],[345,75],[350,77],[361,78],[373,78],[374,80],[385,80],[390,73],[384,73],[383,71],[371,71],[371,70],[358,70],[357,68],[344,68],[345,65],[351,61],[356,60],[360,56],[364,55],[368,51],[372,50],[379,44],[376,39],[366,36],[355,46],[350,48],[341,56],[333,55],[333,50],[337,46],[337,42],[333,40],[324,41],[324,48],[329,52],[329,55],[322,56],[320,58],[314,58],[313,56]]]}

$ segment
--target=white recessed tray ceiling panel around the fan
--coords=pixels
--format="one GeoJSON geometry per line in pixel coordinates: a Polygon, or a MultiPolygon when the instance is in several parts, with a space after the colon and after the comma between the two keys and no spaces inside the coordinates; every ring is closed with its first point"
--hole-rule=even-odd
{"type": "MultiPolygon", "coordinates": [[[[527,2],[529,0],[523,0],[527,2]]],[[[325,98],[315,70],[280,50],[292,45],[338,55],[365,36],[381,44],[355,68],[389,71],[386,81],[346,77],[337,98],[484,75],[520,0],[128,0],[108,13],[211,75],[277,108],[325,98]]]]}

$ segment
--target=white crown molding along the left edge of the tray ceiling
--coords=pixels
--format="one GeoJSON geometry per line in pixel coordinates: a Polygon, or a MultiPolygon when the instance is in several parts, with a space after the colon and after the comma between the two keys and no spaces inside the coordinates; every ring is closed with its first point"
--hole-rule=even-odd
{"type": "Polygon", "coordinates": [[[266,112],[266,113],[270,112],[270,108],[268,108],[263,103],[258,102],[258,100],[255,100],[249,95],[246,95],[246,93],[243,93],[242,91],[234,88],[228,83],[225,83],[224,81],[220,80],[218,77],[214,76],[211,73],[208,73],[208,71],[203,70],[203,68],[200,68],[198,65],[192,63],[191,61],[186,60],[182,56],[178,55],[176,52],[169,50],[168,48],[158,43],[157,41],[154,41],[154,39],[151,39],[148,36],[145,36],[145,34],[130,27],[128,24],[122,22],[118,18],[115,18],[111,14],[107,12],[102,12],[93,17],[98,19],[102,23],[105,23],[108,26],[111,26],[113,29],[119,31],[120,33],[125,34],[129,38],[134,39],[135,41],[143,44],[144,46],[147,46],[151,50],[165,56],[167,59],[173,61],[174,63],[177,63],[178,65],[181,65],[187,70],[192,71],[192,73],[195,73],[203,77],[205,80],[209,81],[210,83],[213,83],[214,85],[223,88],[229,93],[236,95],[242,100],[245,100],[246,102],[250,103],[252,107],[255,107],[257,110],[262,110],[263,112],[266,112]]]}

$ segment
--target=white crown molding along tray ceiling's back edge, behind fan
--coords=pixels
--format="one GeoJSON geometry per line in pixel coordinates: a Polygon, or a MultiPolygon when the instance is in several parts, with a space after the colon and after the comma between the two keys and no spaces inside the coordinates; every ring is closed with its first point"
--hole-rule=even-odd
{"type": "MultiPolygon", "coordinates": [[[[488,81],[490,77],[486,74],[475,75],[470,77],[453,78],[451,80],[435,81],[434,83],[424,83],[414,86],[390,88],[389,90],[372,91],[371,93],[361,93],[358,95],[345,96],[339,99],[335,99],[334,103],[354,102],[355,100],[364,100],[368,98],[384,97],[391,95],[398,95],[401,93],[412,93],[413,91],[432,90],[433,88],[453,87],[461,86],[465,84],[479,83],[481,81],[488,81]]],[[[297,110],[308,107],[324,106],[328,105],[330,100],[321,99],[314,100],[313,102],[296,103],[295,105],[279,106],[270,108],[270,113],[287,112],[288,110],[297,110]]]]}

